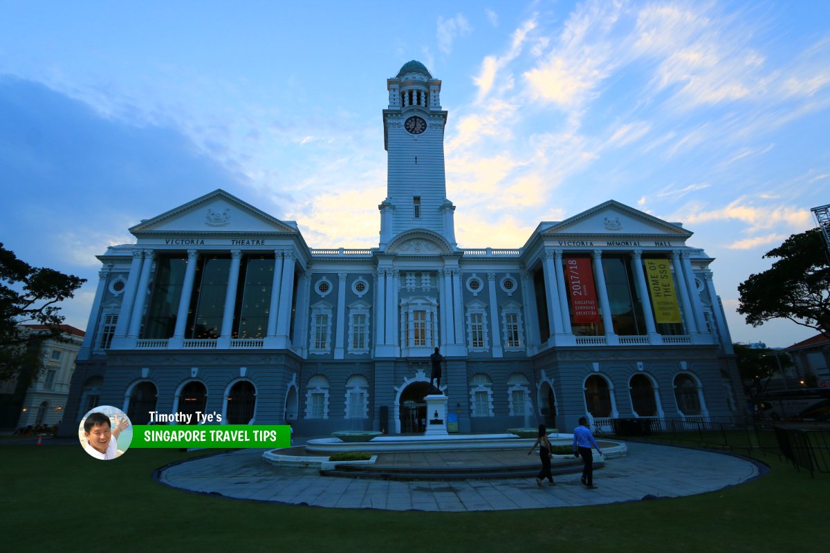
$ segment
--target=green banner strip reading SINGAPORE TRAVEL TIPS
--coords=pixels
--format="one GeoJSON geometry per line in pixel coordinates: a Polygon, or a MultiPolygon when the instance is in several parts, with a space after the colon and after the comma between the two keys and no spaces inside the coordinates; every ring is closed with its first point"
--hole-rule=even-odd
{"type": "Polygon", "coordinates": [[[290,448],[288,424],[136,424],[132,448],[290,448]]]}

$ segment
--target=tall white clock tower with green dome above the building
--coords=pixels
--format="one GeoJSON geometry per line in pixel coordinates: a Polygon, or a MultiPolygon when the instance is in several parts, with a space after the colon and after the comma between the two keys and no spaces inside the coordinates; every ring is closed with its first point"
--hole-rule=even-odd
{"type": "Polygon", "coordinates": [[[387,196],[380,210],[380,250],[412,230],[441,235],[457,249],[453,211],[444,173],[441,81],[419,61],[409,61],[386,81],[389,106],[383,109],[387,151],[387,196]]]}

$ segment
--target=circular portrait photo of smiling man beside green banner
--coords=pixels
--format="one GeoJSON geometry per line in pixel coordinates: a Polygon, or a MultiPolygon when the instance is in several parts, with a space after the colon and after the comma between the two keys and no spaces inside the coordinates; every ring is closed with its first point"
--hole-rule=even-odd
{"type": "Polygon", "coordinates": [[[114,459],[124,454],[133,441],[133,425],[118,407],[99,405],[81,419],[78,439],[90,456],[114,459]]]}

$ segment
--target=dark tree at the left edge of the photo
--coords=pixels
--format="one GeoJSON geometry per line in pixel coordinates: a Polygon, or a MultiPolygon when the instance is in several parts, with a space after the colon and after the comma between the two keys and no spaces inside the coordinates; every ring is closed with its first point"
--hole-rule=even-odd
{"type": "Polygon", "coordinates": [[[41,342],[62,340],[64,318],[56,304],[72,298],[85,282],[54,269],[32,267],[0,243],[0,382],[15,375],[27,379],[37,376],[41,342]],[[27,323],[46,329],[30,332],[21,327],[27,323]],[[27,370],[22,371],[24,368],[27,370]]]}

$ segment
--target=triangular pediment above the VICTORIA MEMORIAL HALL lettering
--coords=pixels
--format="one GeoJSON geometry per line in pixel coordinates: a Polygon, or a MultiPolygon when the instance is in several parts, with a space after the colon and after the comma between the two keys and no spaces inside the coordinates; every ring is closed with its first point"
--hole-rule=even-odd
{"type": "Polygon", "coordinates": [[[609,200],[587,211],[559,221],[542,235],[674,235],[686,239],[690,230],[663,221],[643,211],[609,200]]]}

